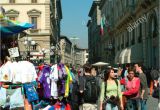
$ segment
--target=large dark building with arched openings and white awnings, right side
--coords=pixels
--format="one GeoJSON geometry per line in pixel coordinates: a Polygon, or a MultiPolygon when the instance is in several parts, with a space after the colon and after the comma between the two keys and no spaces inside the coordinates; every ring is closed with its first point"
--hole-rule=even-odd
{"type": "Polygon", "coordinates": [[[114,58],[106,56],[110,63],[160,68],[158,4],[158,0],[101,0],[101,16],[110,28],[102,37],[102,48],[112,45],[114,58]]]}

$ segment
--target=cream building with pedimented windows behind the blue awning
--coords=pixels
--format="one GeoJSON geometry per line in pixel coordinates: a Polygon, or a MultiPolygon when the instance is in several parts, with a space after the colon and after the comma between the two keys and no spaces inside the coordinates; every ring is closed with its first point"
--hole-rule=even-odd
{"type": "Polygon", "coordinates": [[[34,24],[32,29],[25,31],[24,37],[18,37],[20,54],[25,57],[29,51],[30,59],[44,57],[46,62],[53,62],[50,47],[56,44],[60,35],[60,0],[1,0],[0,5],[9,19],[34,24]],[[24,45],[28,38],[32,38],[34,45],[24,45]]]}

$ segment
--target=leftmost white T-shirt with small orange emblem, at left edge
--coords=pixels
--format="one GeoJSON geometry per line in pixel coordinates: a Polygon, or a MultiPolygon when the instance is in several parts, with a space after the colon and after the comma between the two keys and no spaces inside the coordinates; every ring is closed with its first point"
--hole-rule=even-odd
{"type": "Polygon", "coordinates": [[[12,62],[7,61],[0,67],[0,82],[12,82],[12,62]]]}

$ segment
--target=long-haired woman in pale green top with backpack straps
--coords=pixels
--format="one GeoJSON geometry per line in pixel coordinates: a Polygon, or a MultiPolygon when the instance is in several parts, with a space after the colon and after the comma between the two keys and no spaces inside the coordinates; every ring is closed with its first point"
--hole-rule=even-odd
{"type": "Polygon", "coordinates": [[[115,78],[114,69],[109,68],[101,85],[100,110],[119,110],[119,107],[123,110],[120,82],[115,78]]]}

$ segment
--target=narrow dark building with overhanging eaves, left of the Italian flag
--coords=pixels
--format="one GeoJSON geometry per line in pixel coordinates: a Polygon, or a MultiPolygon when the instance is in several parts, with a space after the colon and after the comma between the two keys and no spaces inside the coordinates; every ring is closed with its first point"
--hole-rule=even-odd
{"type": "Polygon", "coordinates": [[[101,60],[101,39],[100,39],[100,18],[101,11],[99,9],[100,1],[94,1],[88,16],[88,48],[89,48],[89,62],[94,63],[101,60]]]}

